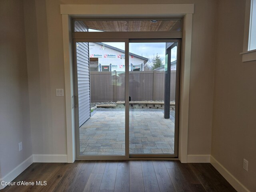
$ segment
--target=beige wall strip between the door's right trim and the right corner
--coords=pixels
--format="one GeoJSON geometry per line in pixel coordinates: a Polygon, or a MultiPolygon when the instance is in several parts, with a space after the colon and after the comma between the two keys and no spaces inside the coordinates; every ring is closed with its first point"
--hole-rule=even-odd
{"type": "MultiPolygon", "coordinates": [[[[200,3],[199,3],[200,2],[200,3]]],[[[210,154],[216,1],[195,4],[192,26],[188,154],[210,154]]]]}

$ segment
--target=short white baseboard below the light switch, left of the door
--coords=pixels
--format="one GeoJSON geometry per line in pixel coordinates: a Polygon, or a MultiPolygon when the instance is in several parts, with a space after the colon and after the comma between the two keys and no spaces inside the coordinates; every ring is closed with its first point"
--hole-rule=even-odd
{"type": "Polygon", "coordinates": [[[68,162],[67,155],[46,155],[46,154],[34,154],[34,163],[66,163],[68,162]]]}

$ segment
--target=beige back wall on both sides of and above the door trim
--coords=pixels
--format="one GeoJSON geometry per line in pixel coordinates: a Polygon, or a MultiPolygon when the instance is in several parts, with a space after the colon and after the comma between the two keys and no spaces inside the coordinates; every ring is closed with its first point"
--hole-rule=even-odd
{"type": "MultiPolygon", "coordinates": [[[[86,1],[86,3],[104,4],[106,2],[86,1]]],[[[127,4],[128,2],[116,0],[111,3],[127,4]]],[[[155,1],[141,0],[129,1],[129,3],[154,4],[155,1]]],[[[216,3],[214,0],[183,0],[182,2],[164,0],[161,3],[195,3],[188,154],[210,154],[216,3]]],[[[66,154],[65,100],[64,97],[55,96],[56,88],[64,88],[60,4],[84,4],[84,1],[46,0],[46,4],[39,0],[24,1],[26,12],[29,13],[25,13],[25,22],[27,49],[30,50],[28,80],[34,154],[66,154]]]]}

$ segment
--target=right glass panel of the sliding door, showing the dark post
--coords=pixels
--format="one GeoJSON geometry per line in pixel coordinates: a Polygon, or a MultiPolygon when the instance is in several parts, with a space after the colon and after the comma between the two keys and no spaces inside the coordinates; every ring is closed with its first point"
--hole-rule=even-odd
{"type": "Polygon", "coordinates": [[[177,156],[177,45],[178,41],[129,43],[130,154],[177,156]]]}

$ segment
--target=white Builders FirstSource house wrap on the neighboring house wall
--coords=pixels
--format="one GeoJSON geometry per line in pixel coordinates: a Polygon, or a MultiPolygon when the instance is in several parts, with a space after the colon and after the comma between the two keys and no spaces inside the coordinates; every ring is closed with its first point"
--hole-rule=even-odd
{"type": "MultiPolygon", "coordinates": [[[[115,47],[106,46],[105,44],[89,43],[90,58],[98,58],[94,62],[94,67],[98,67],[98,71],[125,71],[125,54],[115,47]]],[[[143,65],[146,60],[137,58],[136,56],[129,56],[129,63],[133,65],[143,65]]],[[[129,65],[130,70],[130,65],[129,65]]]]}

